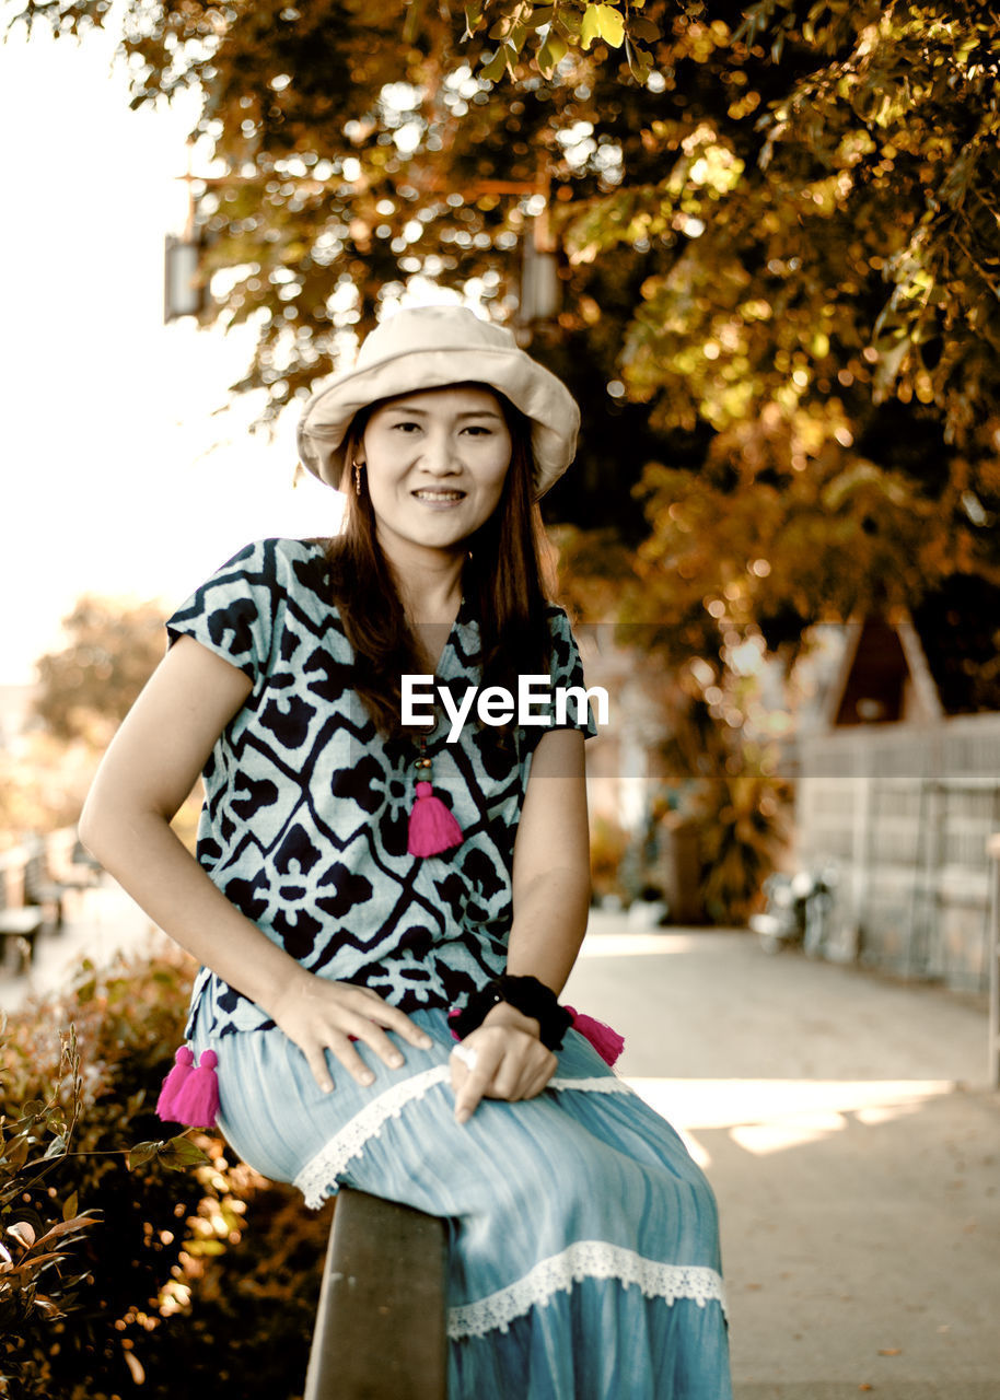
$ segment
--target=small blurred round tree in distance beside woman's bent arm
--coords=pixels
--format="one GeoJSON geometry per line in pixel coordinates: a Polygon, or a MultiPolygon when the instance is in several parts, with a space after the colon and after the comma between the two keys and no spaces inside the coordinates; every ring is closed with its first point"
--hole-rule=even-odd
{"type": "Polygon", "coordinates": [[[77,601],[63,619],[67,645],[36,662],[35,713],[53,738],[108,742],[162,657],[164,617],[151,602],[77,601]]]}

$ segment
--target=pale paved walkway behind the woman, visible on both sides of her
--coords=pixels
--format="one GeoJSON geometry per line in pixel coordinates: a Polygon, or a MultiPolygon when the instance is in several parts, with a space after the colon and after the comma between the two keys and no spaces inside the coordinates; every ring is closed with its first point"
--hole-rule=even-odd
{"type": "MultiPolygon", "coordinates": [[[[69,914],[0,1009],[153,937],[106,878],[69,914]]],[[[627,1035],[620,1068],[716,1189],[737,1400],[1000,1400],[982,1002],[602,914],[567,994],[627,1035]]]]}

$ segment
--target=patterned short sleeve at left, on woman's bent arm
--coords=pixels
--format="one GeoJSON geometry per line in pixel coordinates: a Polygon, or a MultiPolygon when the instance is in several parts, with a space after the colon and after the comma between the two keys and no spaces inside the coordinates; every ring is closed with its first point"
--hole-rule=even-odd
{"type": "Polygon", "coordinates": [[[193,637],[251,680],[266,673],[277,608],[279,540],[234,554],[167,619],[167,645],[193,637]]]}

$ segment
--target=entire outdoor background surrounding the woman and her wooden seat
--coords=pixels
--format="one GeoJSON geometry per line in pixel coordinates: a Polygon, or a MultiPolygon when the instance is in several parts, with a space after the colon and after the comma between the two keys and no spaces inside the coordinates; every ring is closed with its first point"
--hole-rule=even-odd
{"type": "Polygon", "coordinates": [[[583,406],[573,995],[710,1168],[737,1393],[993,1400],[996,1100],[952,1091],[997,967],[996,4],[0,22],[0,1396],[298,1400],[329,1212],[164,1140],[190,962],[76,822],[162,619],[336,531],[314,385],[462,300],[583,406]]]}

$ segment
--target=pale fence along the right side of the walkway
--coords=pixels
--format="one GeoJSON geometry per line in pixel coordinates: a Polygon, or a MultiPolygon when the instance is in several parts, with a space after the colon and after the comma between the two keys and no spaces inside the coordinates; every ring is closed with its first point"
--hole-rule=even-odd
{"type": "Polygon", "coordinates": [[[798,857],[835,861],[847,953],[958,990],[989,983],[1000,715],[871,725],[803,741],[798,857]]]}

